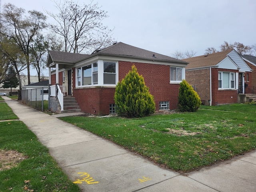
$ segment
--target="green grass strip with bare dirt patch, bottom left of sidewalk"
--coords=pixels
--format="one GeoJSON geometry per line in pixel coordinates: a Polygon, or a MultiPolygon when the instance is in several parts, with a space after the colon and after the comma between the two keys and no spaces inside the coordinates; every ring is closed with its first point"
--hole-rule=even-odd
{"type": "Polygon", "coordinates": [[[0,149],[16,150],[26,157],[15,167],[0,171],[1,192],[80,191],[23,122],[0,122],[0,149]]]}

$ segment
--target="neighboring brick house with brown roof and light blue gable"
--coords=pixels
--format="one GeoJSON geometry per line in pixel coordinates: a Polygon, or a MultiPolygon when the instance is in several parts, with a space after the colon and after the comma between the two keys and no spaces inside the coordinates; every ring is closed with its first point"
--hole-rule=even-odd
{"type": "Polygon", "coordinates": [[[245,93],[245,77],[248,77],[246,83],[251,82],[252,69],[234,49],[184,61],[189,62],[186,80],[205,105],[237,103],[238,94],[245,93]]]}

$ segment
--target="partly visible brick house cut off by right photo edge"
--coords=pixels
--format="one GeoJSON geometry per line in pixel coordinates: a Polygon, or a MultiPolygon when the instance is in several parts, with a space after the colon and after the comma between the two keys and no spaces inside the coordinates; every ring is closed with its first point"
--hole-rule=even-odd
{"type": "Polygon", "coordinates": [[[240,54],[240,56],[248,64],[248,66],[253,70],[251,79],[249,79],[248,74],[246,74],[244,81],[246,82],[246,84],[249,84],[250,86],[253,86],[256,89],[256,57],[251,55],[242,55],[242,54],[240,54]]]}

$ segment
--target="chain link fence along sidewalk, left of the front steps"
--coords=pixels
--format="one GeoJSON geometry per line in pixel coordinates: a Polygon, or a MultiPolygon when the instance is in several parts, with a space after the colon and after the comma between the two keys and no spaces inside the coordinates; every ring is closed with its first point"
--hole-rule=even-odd
{"type": "Polygon", "coordinates": [[[21,98],[24,104],[32,106],[37,110],[49,110],[49,89],[48,88],[34,88],[21,90],[21,98]]]}

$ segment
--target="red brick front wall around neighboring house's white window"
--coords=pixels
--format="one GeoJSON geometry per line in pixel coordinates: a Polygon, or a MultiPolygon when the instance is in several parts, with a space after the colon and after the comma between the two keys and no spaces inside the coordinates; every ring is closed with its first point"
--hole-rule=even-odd
{"type": "Polygon", "coordinates": [[[212,105],[237,103],[237,90],[218,90],[219,71],[238,72],[238,70],[212,68],[212,105]]]}

